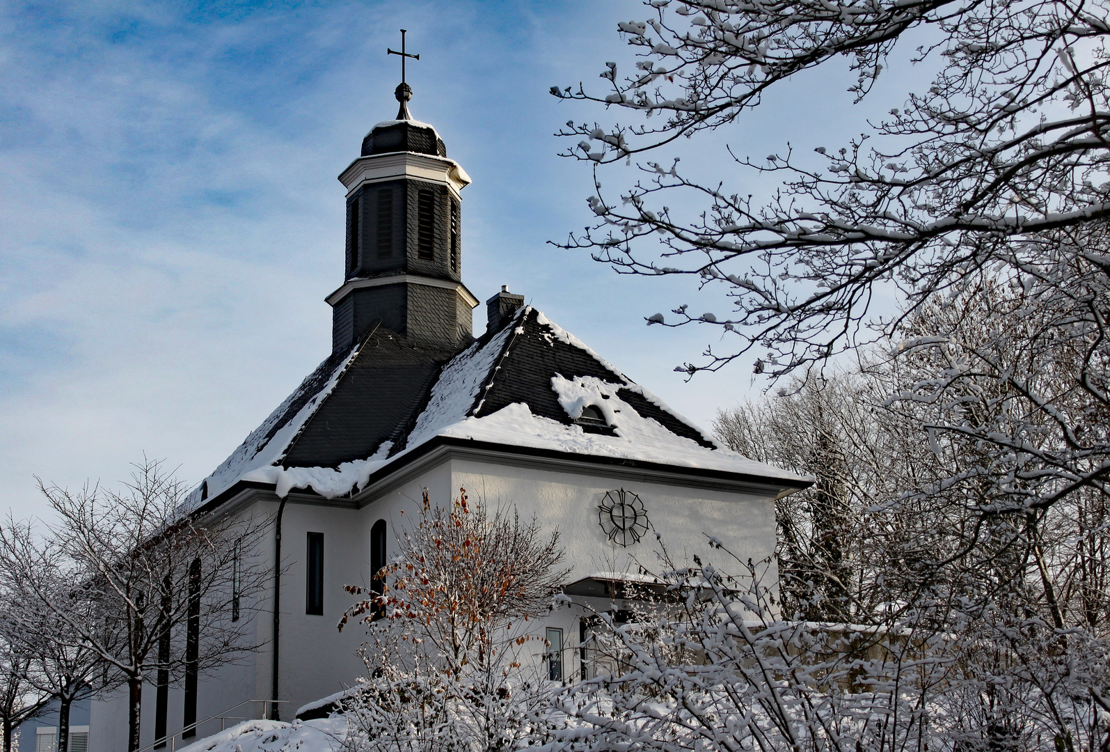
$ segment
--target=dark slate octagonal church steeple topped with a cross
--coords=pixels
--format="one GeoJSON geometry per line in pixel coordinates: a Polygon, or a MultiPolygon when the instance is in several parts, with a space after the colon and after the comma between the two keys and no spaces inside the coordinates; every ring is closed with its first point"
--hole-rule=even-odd
{"type": "MultiPolygon", "coordinates": [[[[420,59],[404,51],[403,36],[402,51],[389,52],[402,66],[420,59]]],[[[340,174],[347,189],[344,283],[327,297],[335,350],[379,324],[425,347],[454,350],[473,339],[478,301],[462,283],[460,195],[471,179],[447,159],[435,129],[412,119],[407,82],[395,96],[397,118],[374,126],[362,156],[340,174]]]]}

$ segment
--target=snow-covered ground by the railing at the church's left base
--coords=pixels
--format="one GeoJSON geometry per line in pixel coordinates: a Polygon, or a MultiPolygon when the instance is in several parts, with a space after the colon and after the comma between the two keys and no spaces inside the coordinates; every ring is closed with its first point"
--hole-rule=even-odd
{"type": "Polygon", "coordinates": [[[244,721],[180,752],[337,752],[345,735],[342,715],[292,723],[244,721]]]}

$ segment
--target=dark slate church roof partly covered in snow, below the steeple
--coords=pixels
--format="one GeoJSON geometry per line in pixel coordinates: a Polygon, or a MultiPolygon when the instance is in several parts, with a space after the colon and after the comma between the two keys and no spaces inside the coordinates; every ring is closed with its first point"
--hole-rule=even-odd
{"type": "Polygon", "coordinates": [[[430,350],[379,328],[332,355],[190,498],[199,505],[239,481],[281,495],[350,493],[372,472],[435,438],[527,445],[806,484],[717,448],[572,334],[524,308],[462,352],[430,350]],[[578,424],[583,404],[608,427],[578,424]]]}

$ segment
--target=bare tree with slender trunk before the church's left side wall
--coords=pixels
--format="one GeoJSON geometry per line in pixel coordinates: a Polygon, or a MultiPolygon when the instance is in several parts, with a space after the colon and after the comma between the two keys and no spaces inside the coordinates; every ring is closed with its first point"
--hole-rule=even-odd
{"type": "MultiPolygon", "coordinates": [[[[262,521],[191,515],[182,508],[185,489],[161,462],[135,468],[118,493],[40,484],[59,518],[50,530],[67,558],[68,578],[99,610],[95,625],[71,609],[64,593],[36,591],[64,629],[127,685],[130,750],[139,748],[142,685],[150,672],[184,675],[186,685],[195,685],[202,673],[256,646],[250,619],[233,615],[232,599],[234,593],[249,602],[265,579],[251,560],[238,568],[235,562],[240,550],[255,548],[262,521]]],[[[38,555],[33,545],[9,553],[24,570],[38,555]]]]}

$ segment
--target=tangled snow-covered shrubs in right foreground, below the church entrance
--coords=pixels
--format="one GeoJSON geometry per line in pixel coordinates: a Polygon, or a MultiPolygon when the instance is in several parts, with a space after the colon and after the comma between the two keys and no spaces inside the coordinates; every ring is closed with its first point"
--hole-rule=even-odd
{"type": "MultiPolygon", "coordinates": [[[[723,552],[727,555],[727,552],[723,552]]],[[[1005,605],[922,600],[885,623],[784,620],[769,562],[665,568],[598,614],[610,673],[566,688],[551,751],[1106,749],[1110,644],[1005,605]],[[1092,703],[1091,698],[1096,701],[1092,703]]]]}

